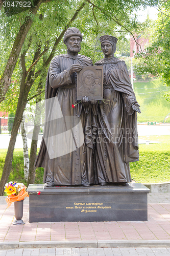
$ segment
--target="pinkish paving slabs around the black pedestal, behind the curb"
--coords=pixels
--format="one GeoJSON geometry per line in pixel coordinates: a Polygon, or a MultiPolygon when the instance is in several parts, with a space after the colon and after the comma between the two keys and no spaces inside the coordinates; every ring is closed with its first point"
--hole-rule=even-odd
{"type": "Polygon", "coordinates": [[[148,221],[29,223],[29,201],[25,200],[25,225],[13,225],[14,205],[0,204],[0,243],[31,241],[170,241],[170,194],[148,195],[148,221]]]}

